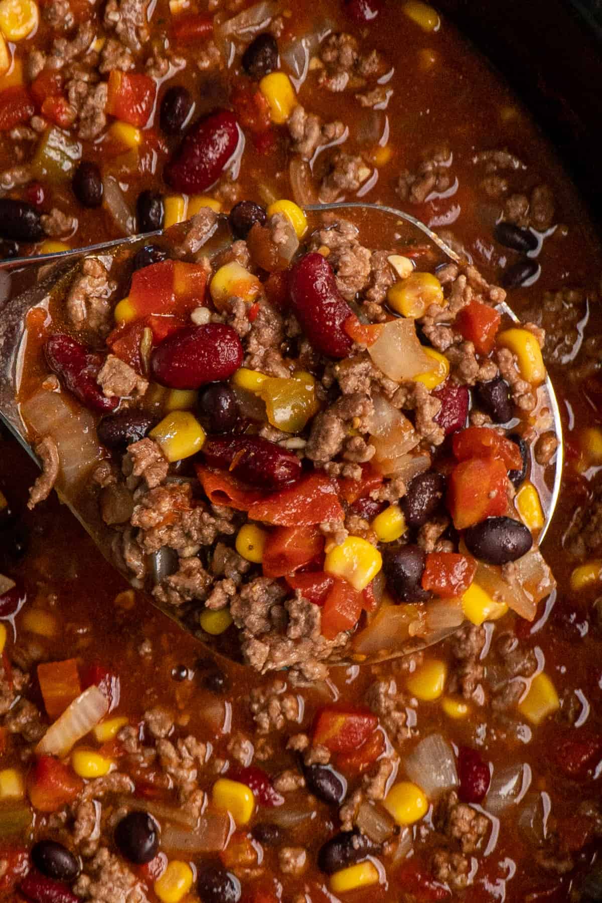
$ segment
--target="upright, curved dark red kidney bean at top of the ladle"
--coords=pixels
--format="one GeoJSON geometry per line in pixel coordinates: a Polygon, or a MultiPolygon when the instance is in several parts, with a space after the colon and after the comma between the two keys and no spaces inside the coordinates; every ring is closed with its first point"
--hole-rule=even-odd
{"type": "Polygon", "coordinates": [[[310,344],[329,358],[344,358],[353,345],[343,329],[353,311],[338,291],[332,267],[321,254],[301,257],[289,280],[292,312],[310,344]]]}

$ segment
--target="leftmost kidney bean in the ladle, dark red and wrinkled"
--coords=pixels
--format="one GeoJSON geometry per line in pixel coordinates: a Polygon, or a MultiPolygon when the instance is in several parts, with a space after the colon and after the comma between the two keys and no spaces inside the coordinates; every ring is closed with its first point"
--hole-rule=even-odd
{"type": "Polygon", "coordinates": [[[77,339],[64,332],[56,332],[46,341],[46,360],[53,373],[56,373],[82,405],[93,411],[113,411],[119,404],[115,396],[107,398],[97,384],[98,371],[102,367],[102,358],[91,354],[77,339]]]}

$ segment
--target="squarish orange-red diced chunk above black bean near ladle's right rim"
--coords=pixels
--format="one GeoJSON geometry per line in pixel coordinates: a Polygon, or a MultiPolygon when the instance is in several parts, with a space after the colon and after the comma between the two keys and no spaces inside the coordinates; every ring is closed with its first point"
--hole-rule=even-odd
{"type": "Polygon", "coordinates": [[[457,530],[473,526],[486,517],[505,514],[508,485],[503,461],[471,458],[451,471],[447,504],[457,530]]]}

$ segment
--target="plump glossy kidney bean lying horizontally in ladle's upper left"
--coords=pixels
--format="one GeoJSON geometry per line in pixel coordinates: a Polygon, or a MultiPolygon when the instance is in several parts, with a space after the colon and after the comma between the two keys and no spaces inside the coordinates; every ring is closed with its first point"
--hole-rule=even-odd
{"type": "Polygon", "coordinates": [[[185,326],[154,349],[153,378],[171,389],[198,389],[228,379],[243,362],[238,333],[224,323],[185,326]]]}

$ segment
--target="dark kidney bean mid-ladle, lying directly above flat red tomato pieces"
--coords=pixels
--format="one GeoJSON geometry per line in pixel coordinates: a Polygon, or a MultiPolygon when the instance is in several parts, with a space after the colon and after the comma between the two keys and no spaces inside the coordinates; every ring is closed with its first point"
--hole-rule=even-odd
{"type": "Polygon", "coordinates": [[[265,489],[281,489],[301,478],[301,461],[293,452],[260,436],[208,436],[202,453],[209,467],[265,489]]]}

